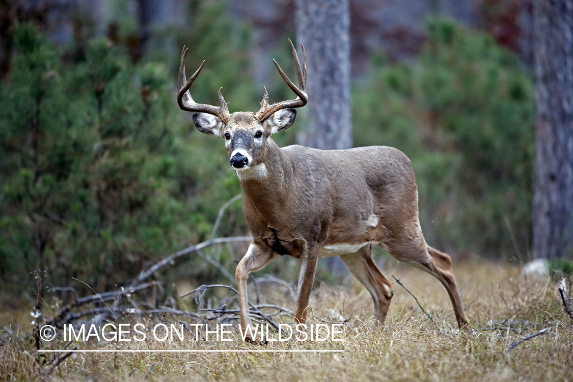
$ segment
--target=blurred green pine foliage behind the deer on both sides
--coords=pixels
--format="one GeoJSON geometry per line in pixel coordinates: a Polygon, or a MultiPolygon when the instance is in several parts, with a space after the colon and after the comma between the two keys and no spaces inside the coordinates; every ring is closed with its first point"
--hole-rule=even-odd
{"type": "MultiPolygon", "coordinates": [[[[222,141],[179,110],[175,84],[180,49],[191,46],[188,74],[207,60],[195,100],[217,104],[223,86],[231,112],[256,111],[262,84],[253,80],[252,30],[224,3],[189,6],[188,26],[156,34],[146,59],[132,49],[128,17],[114,20],[105,38],[86,37],[86,23],[66,46],[30,23],[14,25],[10,71],[0,82],[2,289],[28,286],[37,268],[50,285],[77,278],[112,288],[209,238],[219,208],[241,193],[222,141]]],[[[293,73],[286,37],[274,57],[293,73]]],[[[291,98],[274,74],[271,98],[291,98]]],[[[485,32],[434,17],[413,61],[372,54],[352,97],[355,145],[391,145],[412,160],[431,245],[454,258],[528,258],[533,84],[515,54],[485,32]]],[[[277,143],[293,143],[301,124],[304,113],[277,143]]],[[[248,235],[240,200],[216,234],[248,235]]],[[[206,250],[231,274],[243,254],[241,245],[206,250]]],[[[205,261],[181,262],[164,278],[224,277],[205,261]]],[[[287,268],[274,267],[266,271],[287,268]]],[[[283,275],[295,278],[288,268],[283,275]]]]}

